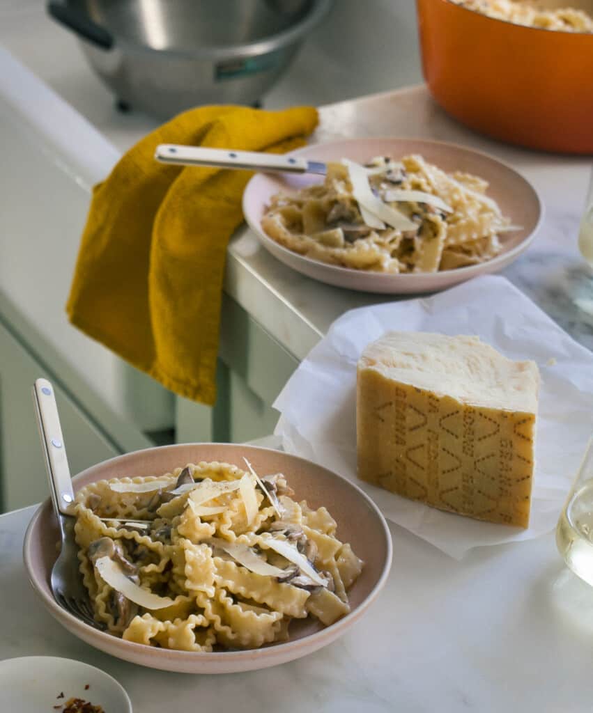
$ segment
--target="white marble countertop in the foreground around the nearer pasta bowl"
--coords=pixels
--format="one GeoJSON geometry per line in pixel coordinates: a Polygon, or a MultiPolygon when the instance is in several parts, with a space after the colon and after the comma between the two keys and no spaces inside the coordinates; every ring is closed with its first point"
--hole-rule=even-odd
{"type": "Polygon", "coordinates": [[[564,567],[552,533],[457,562],[390,525],[385,590],[340,640],[273,669],[199,676],[117,660],[46,613],[21,555],[34,509],[0,516],[0,660],[52,655],[97,666],[126,688],[136,713],[591,710],[593,590],[564,567]]]}

